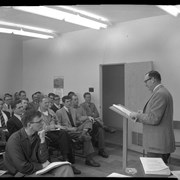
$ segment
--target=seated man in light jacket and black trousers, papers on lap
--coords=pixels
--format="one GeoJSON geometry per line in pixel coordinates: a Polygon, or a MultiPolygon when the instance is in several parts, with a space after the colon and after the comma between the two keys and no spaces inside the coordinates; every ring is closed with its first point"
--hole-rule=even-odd
{"type": "MultiPolygon", "coordinates": [[[[60,150],[63,160],[67,160],[72,164],[75,163],[75,157],[72,151],[72,140],[69,134],[63,130],[56,130],[56,128],[61,128],[58,124],[57,116],[53,110],[49,108],[49,98],[48,96],[42,96],[40,98],[40,104],[38,111],[42,113],[44,120],[44,129],[46,130],[46,136],[50,140],[50,145],[60,150]]],[[[81,171],[78,170],[74,165],[72,166],[74,174],[80,174],[81,171]]]]}

